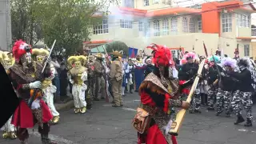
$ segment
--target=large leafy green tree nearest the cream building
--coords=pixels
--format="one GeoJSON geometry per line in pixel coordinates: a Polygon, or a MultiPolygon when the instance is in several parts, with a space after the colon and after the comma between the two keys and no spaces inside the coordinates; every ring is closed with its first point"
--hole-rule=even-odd
{"type": "Polygon", "coordinates": [[[48,46],[57,40],[54,52],[56,54],[65,49],[66,55],[79,52],[82,54],[83,40],[89,41],[91,26],[101,18],[93,15],[99,10],[107,13],[107,3],[115,2],[105,0],[94,2],[88,0],[44,0],[43,7],[38,13],[42,19],[44,42],[48,46]],[[53,13],[54,10],[54,13],[53,13]]]}

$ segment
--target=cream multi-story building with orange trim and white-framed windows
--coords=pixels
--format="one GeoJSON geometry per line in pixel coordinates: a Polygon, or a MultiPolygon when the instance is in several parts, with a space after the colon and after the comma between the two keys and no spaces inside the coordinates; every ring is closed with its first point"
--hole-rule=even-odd
{"type": "Polygon", "coordinates": [[[196,8],[172,7],[170,0],[123,0],[122,4],[126,7],[111,9],[107,18],[94,26],[85,46],[118,40],[146,50],[150,43],[156,43],[170,47],[178,57],[180,47],[205,55],[205,42],[208,54],[219,49],[233,57],[238,46],[240,57],[252,55],[250,14],[256,9],[250,2],[206,2],[196,8]]]}

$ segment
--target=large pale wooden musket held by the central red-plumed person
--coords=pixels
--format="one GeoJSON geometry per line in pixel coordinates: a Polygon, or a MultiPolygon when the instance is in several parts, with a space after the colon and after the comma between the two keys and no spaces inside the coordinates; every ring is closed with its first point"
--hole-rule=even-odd
{"type": "MultiPolygon", "coordinates": [[[[199,81],[199,75],[202,73],[202,68],[205,64],[206,59],[202,60],[202,62],[200,63],[200,66],[198,68],[198,75],[197,77],[194,79],[194,83],[190,89],[190,94],[188,95],[188,97],[186,98],[186,102],[191,102],[191,99],[194,95],[194,90],[196,89],[196,87],[198,86],[198,81],[199,81]]],[[[170,130],[169,130],[169,134],[170,135],[174,135],[177,136],[178,135],[178,131],[180,130],[181,126],[182,126],[182,122],[184,120],[186,114],[186,110],[182,109],[178,112],[175,121],[171,124],[170,126],[170,130]]]]}

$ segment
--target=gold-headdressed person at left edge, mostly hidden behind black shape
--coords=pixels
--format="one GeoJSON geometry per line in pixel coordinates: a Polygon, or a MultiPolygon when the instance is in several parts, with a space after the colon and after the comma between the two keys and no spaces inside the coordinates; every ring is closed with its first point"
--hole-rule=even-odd
{"type": "MultiPolygon", "coordinates": [[[[2,62],[2,66],[5,67],[6,73],[9,73],[8,69],[10,66],[13,66],[15,60],[8,51],[0,51],[0,61],[2,62]]],[[[6,122],[5,126],[2,126],[2,138],[10,138],[15,139],[17,138],[15,127],[11,124],[12,117],[6,122]]]]}

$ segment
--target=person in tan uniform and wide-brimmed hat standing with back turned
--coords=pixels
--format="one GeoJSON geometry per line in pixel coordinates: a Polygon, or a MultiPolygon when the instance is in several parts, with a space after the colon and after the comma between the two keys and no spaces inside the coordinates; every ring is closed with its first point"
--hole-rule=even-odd
{"type": "Polygon", "coordinates": [[[112,93],[114,96],[113,107],[120,107],[122,105],[122,62],[118,57],[122,57],[122,54],[114,51],[110,53],[112,55],[112,63],[110,65],[110,82],[112,93]]]}

